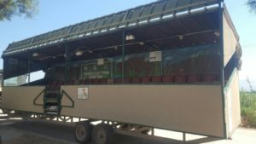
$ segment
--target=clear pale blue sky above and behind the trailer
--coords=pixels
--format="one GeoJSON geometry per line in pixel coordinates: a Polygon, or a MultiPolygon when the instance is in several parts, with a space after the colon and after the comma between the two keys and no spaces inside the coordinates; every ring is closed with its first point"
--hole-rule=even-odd
{"type": "MultiPolygon", "coordinates": [[[[44,0],[39,2],[38,14],[33,18],[14,17],[0,21],[0,53],[9,43],[49,32],[63,26],[94,19],[155,0],[44,0]]],[[[256,14],[247,10],[246,0],[225,0],[231,18],[240,35],[243,49],[241,80],[250,78],[256,83],[256,14]],[[255,65],[254,65],[255,64],[255,65]]],[[[3,60],[0,60],[0,68],[3,60]]],[[[256,84],[255,84],[256,88],[256,84]]]]}

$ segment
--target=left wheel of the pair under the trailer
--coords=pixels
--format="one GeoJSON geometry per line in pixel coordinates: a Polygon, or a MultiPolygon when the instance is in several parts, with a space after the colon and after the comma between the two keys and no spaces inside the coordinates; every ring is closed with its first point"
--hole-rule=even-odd
{"type": "Polygon", "coordinates": [[[90,141],[91,124],[89,122],[79,122],[75,126],[75,139],[79,143],[87,143],[90,141]]]}

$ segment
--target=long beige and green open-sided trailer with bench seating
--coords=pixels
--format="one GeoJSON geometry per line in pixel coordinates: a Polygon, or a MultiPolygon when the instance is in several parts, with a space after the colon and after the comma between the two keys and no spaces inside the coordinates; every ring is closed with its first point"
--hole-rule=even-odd
{"type": "Polygon", "coordinates": [[[241,124],[241,45],[220,0],[148,3],[10,43],[2,58],[3,112],[79,118],[79,143],[153,128],[227,139],[241,124]]]}

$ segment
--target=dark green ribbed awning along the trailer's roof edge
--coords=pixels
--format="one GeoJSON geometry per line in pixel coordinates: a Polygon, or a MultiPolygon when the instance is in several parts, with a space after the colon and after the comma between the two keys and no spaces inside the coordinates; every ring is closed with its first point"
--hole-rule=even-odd
{"type": "Polygon", "coordinates": [[[204,9],[207,6],[215,4],[218,4],[218,0],[161,0],[10,43],[8,48],[3,51],[3,55],[14,55],[29,49],[38,49],[49,44],[61,43],[64,40],[92,37],[117,31],[121,28],[144,26],[180,14],[193,13],[194,10],[202,12],[207,10],[204,9]]]}

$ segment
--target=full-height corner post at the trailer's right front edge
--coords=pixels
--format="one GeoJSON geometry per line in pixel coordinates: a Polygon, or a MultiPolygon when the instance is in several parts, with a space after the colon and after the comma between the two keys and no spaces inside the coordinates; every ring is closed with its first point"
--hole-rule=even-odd
{"type": "Polygon", "coordinates": [[[225,117],[225,95],[224,95],[224,27],[223,27],[223,8],[222,0],[218,1],[218,17],[219,17],[219,64],[220,64],[220,84],[221,84],[221,94],[222,94],[222,109],[223,109],[223,123],[224,123],[224,138],[228,138],[227,124],[225,117]]]}

